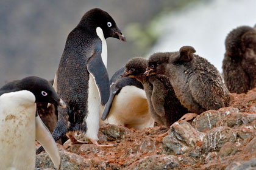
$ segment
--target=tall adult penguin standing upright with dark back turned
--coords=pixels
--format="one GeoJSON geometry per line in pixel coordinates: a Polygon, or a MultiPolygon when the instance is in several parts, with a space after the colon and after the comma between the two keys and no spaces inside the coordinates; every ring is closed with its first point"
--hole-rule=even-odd
{"type": "MultiPolygon", "coordinates": [[[[59,140],[67,132],[72,143],[79,143],[73,132],[82,132],[98,145],[100,106],[107,103],[110,89],[105,38],[126,38],[113,18],[101,9],[89,10],[69,33],[55,75],[54,86],[67,104],[58,108],[58,122],[52,133],[59,140]]],[[[40,153],[43,148],[37,150],[40,153]]]]}

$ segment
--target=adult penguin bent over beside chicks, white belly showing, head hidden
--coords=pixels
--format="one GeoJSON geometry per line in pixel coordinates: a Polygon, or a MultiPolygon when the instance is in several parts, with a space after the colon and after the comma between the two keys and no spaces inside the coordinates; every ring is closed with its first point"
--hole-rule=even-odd
{"type": "Polygon", "coordinates": [[[125,67],[117,70],[110,80],[110,97],[104,107],[105,123],[144,129],[153,127],[154,119],[148,108],[143,85],[135,78],[121,77],[125,67]]]}

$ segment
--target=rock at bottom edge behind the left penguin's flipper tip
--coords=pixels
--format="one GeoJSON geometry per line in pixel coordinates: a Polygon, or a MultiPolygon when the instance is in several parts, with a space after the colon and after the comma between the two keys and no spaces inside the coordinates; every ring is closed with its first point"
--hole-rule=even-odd
{"type": "MultiPolygon", "coordinates": [[[[62,147],[58,147],[60,157],[62,158],[62,169],[87,169],[90,161],[72,152],[65,151],[62,147]]],[[[43,152],[36,156],[35,168],[46,169],[54,168],[54,165],[48,153],[43,152]]]]}

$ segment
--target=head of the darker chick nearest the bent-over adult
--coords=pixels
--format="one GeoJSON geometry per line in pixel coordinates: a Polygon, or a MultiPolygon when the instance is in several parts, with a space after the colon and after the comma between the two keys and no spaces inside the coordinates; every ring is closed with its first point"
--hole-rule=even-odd
{"type": "Polygon", "coordinates": [[[139,81],[147,68],[147,60],[141,57],[135,57],[128,61],[126,70],[122,77],[137,78],[139,81]]]}

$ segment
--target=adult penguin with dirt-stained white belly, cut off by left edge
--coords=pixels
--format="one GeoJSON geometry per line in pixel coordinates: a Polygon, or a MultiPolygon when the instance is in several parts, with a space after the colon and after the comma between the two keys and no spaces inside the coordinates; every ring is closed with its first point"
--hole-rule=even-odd
{"type": "Polygon", "coordinates": [[[65,107],[51,84],[39,77],[13,81],[0,89],[1,169],[34,169],[35,140],[60,169],[61,158],[51,133],[36,113],[36,103],[65,107]]]}

